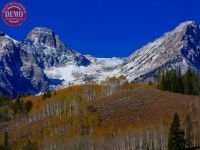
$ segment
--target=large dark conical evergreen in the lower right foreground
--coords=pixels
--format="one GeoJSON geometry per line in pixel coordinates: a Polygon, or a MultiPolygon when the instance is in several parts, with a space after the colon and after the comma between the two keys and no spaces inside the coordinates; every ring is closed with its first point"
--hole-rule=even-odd
{"type": "Polygon", "coordinates": [[[168,150],[184,150],[184,149],[185,149],[184,131],[181,130],[179,116],[177,113],[175,113],[169,132],[168,150]]]}

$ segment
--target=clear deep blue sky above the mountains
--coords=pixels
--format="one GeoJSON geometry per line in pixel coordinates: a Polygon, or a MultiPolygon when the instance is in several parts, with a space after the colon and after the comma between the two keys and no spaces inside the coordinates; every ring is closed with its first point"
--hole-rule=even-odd
{"type": "Polygon", "coordinates": [[[33,27],[48,27],[68,47],[97,57],[128,56],[180,22],[200,23],[199,0],[16,1],[26,6],[26,22],[13,28],[0,20],[0,31],[22,40],[33,27]]]}

